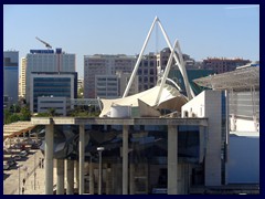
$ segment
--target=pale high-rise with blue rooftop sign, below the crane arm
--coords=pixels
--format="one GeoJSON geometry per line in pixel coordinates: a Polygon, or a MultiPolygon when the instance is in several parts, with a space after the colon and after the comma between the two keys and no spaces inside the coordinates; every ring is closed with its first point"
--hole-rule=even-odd
{"type": "Polygon", "coordinates": [[[25,95],[26,102],[32,97],[30,94],[30,80],[33,72],[75,72],[75,54],[67,54],[62,49],[31,50],[26,54],[25,95]]]}

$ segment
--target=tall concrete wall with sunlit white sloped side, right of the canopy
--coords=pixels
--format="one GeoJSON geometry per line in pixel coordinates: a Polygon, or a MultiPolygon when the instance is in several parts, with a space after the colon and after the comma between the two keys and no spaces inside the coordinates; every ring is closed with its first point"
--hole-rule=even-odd
{"type": "Polygon", "coordinates": [[[181,115],[184,117],[208,117],[208,138],[205,151],[205,186],[221,185],[221,92],[203,91],[181,107],[181,115]]]}

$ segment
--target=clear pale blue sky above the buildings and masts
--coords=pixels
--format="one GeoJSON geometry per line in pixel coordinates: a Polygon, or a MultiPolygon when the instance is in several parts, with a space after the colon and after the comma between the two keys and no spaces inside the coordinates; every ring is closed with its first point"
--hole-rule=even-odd
{"type": "MultiPolygon", "coordinates": [[[[259,60],[259,7],[252,4],[139,6],[3,6],[3,50],[20,59],[31,49],[45,49],[35,36],[76,54],[83,77],[84,55],[138,54],[158,17],[171,43],[195,60],[208,56],[259,60]]],[[[146,53],[166,46],[156,28],[146,53]]]]}

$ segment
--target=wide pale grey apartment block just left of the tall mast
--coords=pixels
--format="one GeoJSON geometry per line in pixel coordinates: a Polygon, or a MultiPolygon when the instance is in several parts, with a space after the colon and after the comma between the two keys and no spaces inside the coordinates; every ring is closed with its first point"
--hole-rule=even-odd
{"type": "Polygon", "coordinates": [[[116,75],[117,72],[131,73],[136,63],[135,56],[118,55],[85,55],[84,56],[84,97],[96,98],[96,76],[116,75]]]}

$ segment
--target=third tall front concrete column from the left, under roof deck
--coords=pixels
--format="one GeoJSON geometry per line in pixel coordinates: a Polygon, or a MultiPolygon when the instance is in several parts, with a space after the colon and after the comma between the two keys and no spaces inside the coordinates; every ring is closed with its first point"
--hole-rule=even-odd
{"type": "Polygon", "coordinates": [[[123,126],[123,195],[128,195],[128,125],[123,126]]]}

